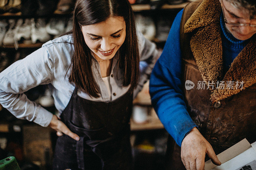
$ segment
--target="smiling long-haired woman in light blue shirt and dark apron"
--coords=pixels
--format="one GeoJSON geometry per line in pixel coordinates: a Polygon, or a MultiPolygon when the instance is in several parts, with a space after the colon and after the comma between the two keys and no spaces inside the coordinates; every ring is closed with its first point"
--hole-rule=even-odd
{"type": "Polygon", "coordinates": [[[132,169],[132,100],[157,56],[136,33],[128,0],[77,0],[71,33],[0,73],[0,103],[57,131],[54,170],[132,169]],[[40,84],[48,84],[58,116],[23,93],[40,84]]]}

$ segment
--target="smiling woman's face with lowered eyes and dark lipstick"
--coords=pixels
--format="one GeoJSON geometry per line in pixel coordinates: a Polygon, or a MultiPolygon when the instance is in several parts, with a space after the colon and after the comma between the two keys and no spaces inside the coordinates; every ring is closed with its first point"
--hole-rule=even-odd
{"type": "Polygon", "coordinates": [[[106,21],[82,26],[86,45],[102,60],[114,57],[125,40],[123,17],[110,17],[106,21]]]}

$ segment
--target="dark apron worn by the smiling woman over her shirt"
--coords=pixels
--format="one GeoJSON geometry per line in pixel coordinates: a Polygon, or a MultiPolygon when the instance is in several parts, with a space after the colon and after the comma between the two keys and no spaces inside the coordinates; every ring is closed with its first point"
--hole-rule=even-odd
{"type": "Polygon", "coordinates": [[[106,103],[79,97],[75,87],[60,118],[80,140],[58,137],[53,169],[131,169],[131,113],[130,93],[106,103]]]}

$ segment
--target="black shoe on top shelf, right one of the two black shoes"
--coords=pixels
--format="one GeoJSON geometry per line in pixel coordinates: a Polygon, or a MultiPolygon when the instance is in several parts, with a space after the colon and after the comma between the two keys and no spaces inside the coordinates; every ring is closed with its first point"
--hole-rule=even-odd
{"type": "MultiPolygon", "coordinates": [[[[58,1],[56,0],[34,0],[38,4],[36,15],[39,17],[51,15],[56,9],[58,1]]],[[[35,3],[33,1],[33,3],[35,3]]]]}

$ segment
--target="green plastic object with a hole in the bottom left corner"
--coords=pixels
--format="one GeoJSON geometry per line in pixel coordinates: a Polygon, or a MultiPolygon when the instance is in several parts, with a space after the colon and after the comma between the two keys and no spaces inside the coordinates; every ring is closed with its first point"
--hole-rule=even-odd
{"type": "Polygon", "coordinates": [[[10,156],[0,161],[0,170],[20,170],[20,167],[16,158],[10,156]]]}

